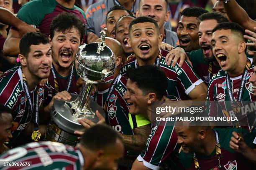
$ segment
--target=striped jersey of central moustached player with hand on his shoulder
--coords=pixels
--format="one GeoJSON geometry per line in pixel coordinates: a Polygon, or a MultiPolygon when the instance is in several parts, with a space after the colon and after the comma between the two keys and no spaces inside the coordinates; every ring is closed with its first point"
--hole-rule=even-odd
{"type": "MultiPolygon", "coordinates": [[[[189,99],[187,96],[189,92],[191,92],[196,85],[199,85],[203,81],[187,61],[184,62],[182,67],[178,66],[179,61],[174,67],[171,65],[168,66],[167,62],[165,62],[165,56],[167,54],[168,51],[161,50],[158,55],[160,57],[159,67],[161,70],[164,70],[165,75],[168,78],[168,88],[166,90],[166,95],[174,95],[181,100],[187,100],[189,99]]],[[[133,57],[121,67],[120,73],[126,77],[128,68],[135,68],[137,65],[136,57],[133,57]]]]}

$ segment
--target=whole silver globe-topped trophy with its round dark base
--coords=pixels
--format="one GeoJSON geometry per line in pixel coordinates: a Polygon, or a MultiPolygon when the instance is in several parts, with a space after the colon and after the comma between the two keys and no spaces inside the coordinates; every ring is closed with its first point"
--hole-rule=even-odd
{"type": "Polygon", "coordinates": [[[115,55],[104,40],[105,31],[102,31],[100,43],[92,42],[79,46],[76,69],[84,80],[82,90],[79,95],[72,95],[72,100],[54,100],[46,140],[76,145],[78,141],[74,131],[84,130],[78,122],[79,119],[85,117],[98,122],[96,110],[105,117],[100,105],[90,100],[92,86],[106,82],[115,71],[115,55]]]}

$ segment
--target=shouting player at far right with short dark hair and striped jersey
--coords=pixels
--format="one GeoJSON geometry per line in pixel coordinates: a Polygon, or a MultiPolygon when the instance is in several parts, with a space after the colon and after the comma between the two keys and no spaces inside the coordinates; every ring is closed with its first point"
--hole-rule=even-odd
{"type": "MultiPolygon", "coordinates": [[[[213,29],[212,52],[222,70],[212,77],[208,86],[208,101],[254,101],[249,78],[253,75],[253,59],[246,56],[244,29],[236,23],[220,23],[213,29]]],[[[220,103],[223,115],[233,117],[233,106],[220,103]]],[[[216,115],[216,107],[210,108],[209,115],[216,115]]],[[[241,110],[243,114],[247,111],[241,110]]]]}

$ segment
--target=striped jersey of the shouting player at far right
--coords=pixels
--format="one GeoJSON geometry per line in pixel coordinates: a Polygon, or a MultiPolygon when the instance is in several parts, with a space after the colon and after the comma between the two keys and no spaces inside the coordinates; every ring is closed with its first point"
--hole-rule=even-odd
{"type": "MultiPolygon", "coordinates": [[[[252,58],[248,57],[248,60],[252,62],[252,58]]],[[[241,97],[241,101],[255,101],[255,97],[253,97],[252,84],[249,82],[249,78],[253,75],[253,67],[251,64],[249,67],[248,73],[246,75],[246,80],[244,82],[243,95],[241,97]]],[[[223,70],[220,70],[218,74],[212,77],[210,84],[208,86],[207,92],[207,101],[218,101],[220,104],[221,110],[232,110],[230,104],[226,104],[224,101],[229,101],[228,97],[228,89],[226,86],[226,75],[227,73],[223,70]]],[[[241,77],[230,77],[231,89],[233,92],[233,97],[237,100],[238,92],[241,84],[241,77]]],[[[212,102],[209,102],[207,105],[207,111],[210,116],[216,116],[217,114],[217,105],[214,105],[212,102]]],[[[222,113],[221,113],[222,114],[222,113]]],[[[225,111],[223,111],[223,115],[225,111]]],[[[230,112],[229,112],[230,115],[230,112]]],[[[231,114],[232,115],[232,114],[231,114]]]]}

